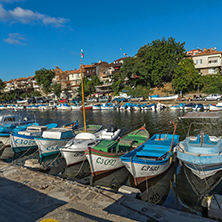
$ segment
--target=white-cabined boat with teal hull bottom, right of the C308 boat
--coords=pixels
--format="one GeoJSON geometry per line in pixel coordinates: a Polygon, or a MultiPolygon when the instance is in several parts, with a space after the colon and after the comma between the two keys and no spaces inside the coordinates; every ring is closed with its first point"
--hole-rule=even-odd
{"type": "Polygon", "coordinates": [[[44,131],[42,137],[35,138],[35,142],[39,148],[40,159],[58,154],[59,149],[73,137],[72,130],[67,128],[54,128],[44,131]]]}

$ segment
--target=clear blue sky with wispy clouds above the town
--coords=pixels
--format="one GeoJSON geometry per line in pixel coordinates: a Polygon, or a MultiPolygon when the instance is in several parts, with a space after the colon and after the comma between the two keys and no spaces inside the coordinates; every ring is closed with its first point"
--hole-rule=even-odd
{"type": "Polygon", "coordinates": [[[134,56],[162,37],[222,51],[222,1],[0,0],[0,78],[134,56]]]}

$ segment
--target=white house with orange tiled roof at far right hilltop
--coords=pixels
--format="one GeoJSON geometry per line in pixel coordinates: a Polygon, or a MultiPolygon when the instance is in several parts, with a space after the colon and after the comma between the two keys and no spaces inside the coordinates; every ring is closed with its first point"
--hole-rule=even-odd
{"type": "Polygon", "coordinates": [[[191,56],[194,61],[195,68],[202,75],[212,75],[221,73],[222,52],[217,51],[216,48],[206,49],[199,51],[198,53],[191,56]]]}

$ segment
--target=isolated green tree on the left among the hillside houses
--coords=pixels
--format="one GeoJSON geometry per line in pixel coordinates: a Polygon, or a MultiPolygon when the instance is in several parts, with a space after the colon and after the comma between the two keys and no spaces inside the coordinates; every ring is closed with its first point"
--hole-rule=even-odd
{"type": "Polygon", "coordinates": [[[39,86],[42,86],[43,91],[48,94],[50,92],[50,85],[52,79],[55,77],[55,73],[51,69],[42,68],[35,71],[36,82],[39,86]]]}

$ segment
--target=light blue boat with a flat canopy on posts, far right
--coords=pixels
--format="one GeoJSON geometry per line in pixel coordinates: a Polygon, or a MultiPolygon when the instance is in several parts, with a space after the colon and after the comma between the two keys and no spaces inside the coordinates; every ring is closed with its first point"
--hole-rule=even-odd
{"type": "Polygon", "coordinates": [[[222,138],[219,113],[189,112],[180,119],[192,122],[189,124],[185,140],[176,146],[177,158],[201,179],[220,171],[222,138]]]}

